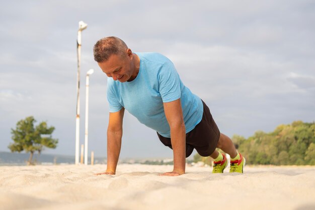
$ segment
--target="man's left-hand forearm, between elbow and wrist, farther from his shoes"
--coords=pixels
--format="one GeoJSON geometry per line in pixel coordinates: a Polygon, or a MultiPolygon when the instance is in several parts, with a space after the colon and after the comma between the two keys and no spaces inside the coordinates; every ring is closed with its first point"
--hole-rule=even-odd
{"type": "Polygon", "coordinates": [[[122,131],[107,131],[107,172],[116,173],[121,149],[122,131]]]}

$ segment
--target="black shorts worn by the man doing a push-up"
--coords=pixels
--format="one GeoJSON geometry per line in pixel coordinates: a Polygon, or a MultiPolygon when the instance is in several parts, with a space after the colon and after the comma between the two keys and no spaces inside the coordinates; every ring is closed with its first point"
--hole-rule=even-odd
{"type": "MultiPolygon", "coordinates": [[[[220,131],[215,124],[208,106],[202,101],[203,115],[201,121],[194,129],[186,133],[186,158],[196,149],[199,155],[203,157],[210,156],[219,141],[220,131]]],[[[171,138],[164,137],[157,133],[160,141],[172,149],[171,138]]]]}

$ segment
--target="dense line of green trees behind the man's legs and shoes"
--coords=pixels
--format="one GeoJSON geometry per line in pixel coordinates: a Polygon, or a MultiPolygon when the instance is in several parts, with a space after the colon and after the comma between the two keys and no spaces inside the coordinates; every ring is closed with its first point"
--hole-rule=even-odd
{"type": "MultiPolygon", "coordinates": [[[[249,138],[233,135],[232,141],[247,164],[315,165],[314,122],[281,124],[272,132],[257,131],[249,138]]],[[[198,154],[194,160],[209,162],[198,154]]]]}

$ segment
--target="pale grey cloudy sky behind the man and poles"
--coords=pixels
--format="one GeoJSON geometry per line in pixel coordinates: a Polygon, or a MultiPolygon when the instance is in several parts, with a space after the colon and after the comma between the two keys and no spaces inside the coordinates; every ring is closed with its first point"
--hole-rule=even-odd
{"type": "MultiPolygon", "coordinates": [[[[89,69],[89,154],[106,156],[107,77],[93,59],[106,36],[160,52],[210,108],[220,131],[249,137],[315,120],[314,1],[4,1],[0,8],[0,151],[27,116],[59,139],[45,154],[75,153],[76,38],[82,32],[80,144],[89,69]]],[[[172,157],[156,132],[125,112],[122,158],[172,157]]],[[[195,153],[194,153],[195,154],[195,153]]]]}

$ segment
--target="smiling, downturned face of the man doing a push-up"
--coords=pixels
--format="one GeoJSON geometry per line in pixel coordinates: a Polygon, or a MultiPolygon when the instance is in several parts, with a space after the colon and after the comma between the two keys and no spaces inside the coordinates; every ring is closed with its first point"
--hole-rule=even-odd
{"type": "Polygon", "coordinates": [[[108,60],[98,62],[102,71],[107,77],[118,80],[121,83],[132,81],[135,79],[134,76],[134,65],[132,63],[132,52],[126,52],[125,56],[111,55],[108,60]]]}

